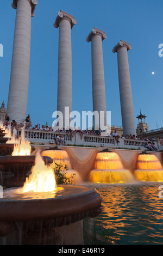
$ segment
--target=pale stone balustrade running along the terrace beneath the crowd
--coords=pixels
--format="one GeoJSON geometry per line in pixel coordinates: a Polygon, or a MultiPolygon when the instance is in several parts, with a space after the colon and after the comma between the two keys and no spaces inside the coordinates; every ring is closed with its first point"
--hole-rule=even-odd
{"type": "MultiPolygon", "coordinates": [[[[18,130],[17,134],[21,136],[21,130],[18,130]]],[[[25,130],[24,135],[28,141],[35,144],[55,144],[57,136],[61,134],[64,136],[66,144],[71,145],[87,145],[96,147],[112,147],[112,148],[143,148],[147,146],[147,141],[134,140],[134,139],[123,139],[119,138],[119,143],[113,137],[102,137],[94,135],[83,135],[80,137],[79,133],[73,136],[67,136],[66,132],[50,132],[43,130],[25,130]]],[[[163,146],[159,142],[155,142],[156,148],[163,150],[163,146]]]]}

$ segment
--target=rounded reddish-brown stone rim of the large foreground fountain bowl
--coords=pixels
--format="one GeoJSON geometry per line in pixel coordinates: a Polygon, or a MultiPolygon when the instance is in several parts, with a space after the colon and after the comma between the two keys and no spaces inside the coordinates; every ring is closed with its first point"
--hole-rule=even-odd
{"type": "Polygon", "coordinates": [[[0,199],[1,222],[32,221],[48,218],[95,217],[101,212],[102,197],[96,188],[86,185],[59,185],[62,188],[82,187],[83,193],[48,199],[0,199]],[[76,217],[74,217],[76,216],[76,217]]]}

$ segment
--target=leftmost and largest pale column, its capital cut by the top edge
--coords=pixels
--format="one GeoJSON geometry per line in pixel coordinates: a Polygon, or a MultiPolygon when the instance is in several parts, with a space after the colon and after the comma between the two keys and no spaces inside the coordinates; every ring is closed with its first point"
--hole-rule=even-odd
{"type": "Polygon", "coordinates": [[[22,123],[27,116],[31,16],[34,16],[36,0],[14,0],[16,9],[14,44],[12,50],[10,86],[7,114],[10,120],[22,123]]]}

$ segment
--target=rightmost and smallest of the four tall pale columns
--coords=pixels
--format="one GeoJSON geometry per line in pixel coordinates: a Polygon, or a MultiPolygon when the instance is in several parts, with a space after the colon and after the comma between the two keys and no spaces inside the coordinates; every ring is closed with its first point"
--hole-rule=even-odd
{"type": "Polygon", "coordinates": [[[117,52],[123,133],[124,135],[136,135],[133,96],[131,92],[127,54],[128,50],[131,50],[130,44],[121,40],[112,49],[112,52],[117,52]]]}

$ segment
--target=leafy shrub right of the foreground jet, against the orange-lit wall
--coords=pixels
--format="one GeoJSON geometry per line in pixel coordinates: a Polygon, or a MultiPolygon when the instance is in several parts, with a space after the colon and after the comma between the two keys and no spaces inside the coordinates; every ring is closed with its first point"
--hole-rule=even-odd
{"type": "Polygon", "coordinates": [[[56,163],[54,167],[55,180],[57,184],[73,184],[73,179],[75,173],[68,175],[67,173],[67,164],[56,163]]]}

